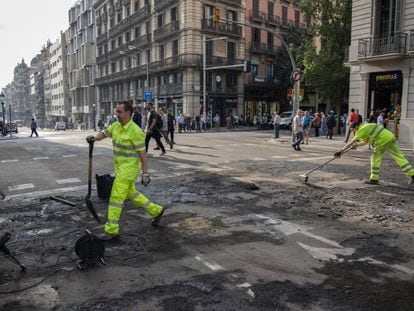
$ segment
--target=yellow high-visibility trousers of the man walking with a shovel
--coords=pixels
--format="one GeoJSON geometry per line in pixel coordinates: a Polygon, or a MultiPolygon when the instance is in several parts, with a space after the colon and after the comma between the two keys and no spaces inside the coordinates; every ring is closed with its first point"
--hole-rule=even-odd
{"type": "Polygon", "coordinates": [[[115,178],[109,198],[108,216],[105,223],[105,233],[109,235],[119,234],[119,221],[125,200],[131,201],[137,207],[143,207],[152,218],[158,216],[163,207],[148,200],[135,188],[134,180],[122,180],[115,178]]]}

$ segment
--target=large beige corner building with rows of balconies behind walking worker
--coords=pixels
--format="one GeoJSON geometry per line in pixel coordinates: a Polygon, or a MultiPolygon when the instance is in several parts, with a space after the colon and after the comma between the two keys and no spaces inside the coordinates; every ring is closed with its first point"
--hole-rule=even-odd
{"type": "MultiPolygon", "coordinates": [[[[93,7],[98,102],[106,115],[121,99],[202,113],[203,42],[206,67],[243,63],[243,28],[228,21],[244,21],[243,0],[95,0],[93,7]],[[220,20],[213,22],[216,12],[220,20]]],[[[210,115],[242,111],[242,69],[206,71],[210,115]]]]}

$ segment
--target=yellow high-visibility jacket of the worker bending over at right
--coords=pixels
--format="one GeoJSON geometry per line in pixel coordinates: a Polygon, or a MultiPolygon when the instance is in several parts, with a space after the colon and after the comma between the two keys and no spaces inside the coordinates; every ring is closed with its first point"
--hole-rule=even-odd
{"type": "Polygon", "coordinates": [[[372,146],[385,146],[395,140],[395,136],[382,125],[367,123],[358,129],[354,139],[363,140],[372,146]]]}

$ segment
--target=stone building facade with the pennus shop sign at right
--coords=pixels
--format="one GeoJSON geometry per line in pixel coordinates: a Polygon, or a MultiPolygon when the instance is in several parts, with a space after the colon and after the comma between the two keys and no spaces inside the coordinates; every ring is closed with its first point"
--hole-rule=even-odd
{"type": "Polygon", "coordinates": [[[354,0],[349,108],[389,114],[389,128],[414,145],[414,0],[354,0]],[[400,119],[400,120],[399,120],[400,119]],[[398,125],[399,122],[399,125],[398,125]]]}

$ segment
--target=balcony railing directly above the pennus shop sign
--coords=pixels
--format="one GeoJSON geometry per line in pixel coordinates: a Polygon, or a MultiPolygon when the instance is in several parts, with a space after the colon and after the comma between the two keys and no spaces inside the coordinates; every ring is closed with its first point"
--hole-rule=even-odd
{"type": "Polygon", "coordinates": [[[397,32],[390,36],[359,39],[358,57],[372,57],[407,53],[407,34],[397,32]]]}

